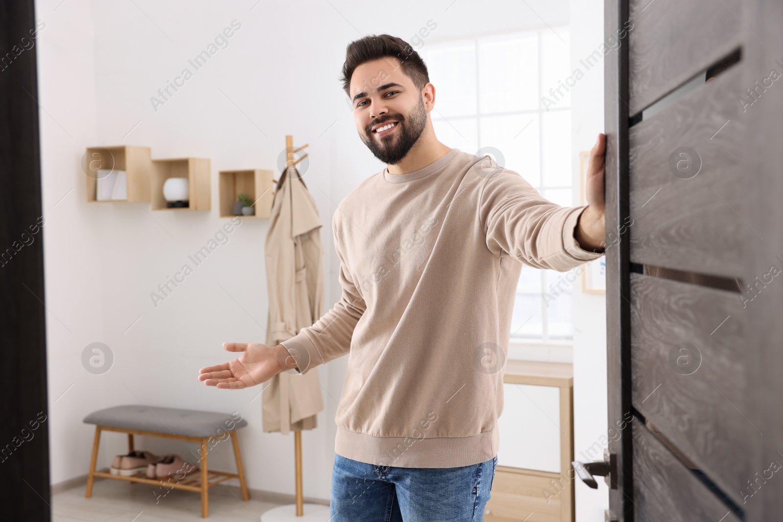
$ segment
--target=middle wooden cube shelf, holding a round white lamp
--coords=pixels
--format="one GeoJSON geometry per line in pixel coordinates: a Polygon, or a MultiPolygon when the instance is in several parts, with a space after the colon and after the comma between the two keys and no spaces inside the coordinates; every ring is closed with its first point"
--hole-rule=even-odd
{"type": "Polygon", "coordinates": [[[152,160],[153,211],[208,211],[211,209],[210,160],[186,157],[152,160]],[[189,203],[187,207],[167,207],[163,184],[168,178],[188,178],[189,203]]]}

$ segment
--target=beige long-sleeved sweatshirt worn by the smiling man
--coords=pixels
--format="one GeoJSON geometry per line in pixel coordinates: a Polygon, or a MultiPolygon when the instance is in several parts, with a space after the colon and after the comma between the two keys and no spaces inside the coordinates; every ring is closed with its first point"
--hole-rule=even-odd
{"type": "Polygon", "coordinates": [[[342,297],[282,343],[302,374],[350,354],[335,452],[402,467],[492,459],[522,264],[600,257],[574,239],[584,208],[459,149],[345,196],[332,219],[342,297]]]}

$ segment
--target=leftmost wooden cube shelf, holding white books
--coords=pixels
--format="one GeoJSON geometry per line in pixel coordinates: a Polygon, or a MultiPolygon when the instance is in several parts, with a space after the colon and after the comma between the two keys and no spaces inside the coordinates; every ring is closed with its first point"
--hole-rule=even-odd
{"type": "Polygon", "coordinates": [[[150,147],[131,145],[88,147],[85,160],[88,203],[117,203],[122,201],[150,201],[152,160],[150,147]],[[124,200],[98,200],[98,169],[125,171],[127,192],[124,200]]]}

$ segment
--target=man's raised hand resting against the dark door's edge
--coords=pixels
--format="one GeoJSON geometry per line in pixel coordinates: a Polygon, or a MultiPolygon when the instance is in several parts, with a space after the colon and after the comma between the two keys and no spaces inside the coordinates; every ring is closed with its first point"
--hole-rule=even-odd
{"type": "Polygon", "coordinates": [[[574,230],[574,238],[584,250],[603,250],[606,246],[605,206],[604,206],[604,157],[606,154],[606,135],[598,134],[598,140],[590,149],[590,160],[585,180],[585,198],[587,207],[579,216],[574,230]]]}

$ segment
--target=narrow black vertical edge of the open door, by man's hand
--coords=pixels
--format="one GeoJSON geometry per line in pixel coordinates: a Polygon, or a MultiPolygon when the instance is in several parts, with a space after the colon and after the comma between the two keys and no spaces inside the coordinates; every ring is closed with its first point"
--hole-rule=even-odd
{"type": "MultiPolygon", "coordinates": [[[[617,38],[628,20],[627,0],[604,2],[604,41],[617,38]]],[[[621,33],[622,34],[622,33],[621,33]]],[[[633,452],[630,395],[630,231],[628,187],[628,34],[619,39],[615,52],[604,59],[604,134],[606,134],[606,231],[619,236],[619,243],[606,253],[606,340],[608,430],[619,430],[610,439],[609,452],[616,455],[617,469],[609,490],[609,508],[621,522],[633,521],[633,452]],[[625,100],[625,101],[623,101],[625,100]],[[621,429],[622,428],[622,429],[621,429]]],[[[612,236],[612,237],[615,237],[612,236]]]]}

